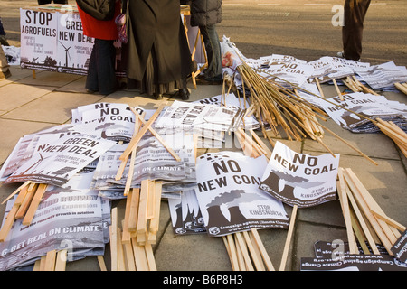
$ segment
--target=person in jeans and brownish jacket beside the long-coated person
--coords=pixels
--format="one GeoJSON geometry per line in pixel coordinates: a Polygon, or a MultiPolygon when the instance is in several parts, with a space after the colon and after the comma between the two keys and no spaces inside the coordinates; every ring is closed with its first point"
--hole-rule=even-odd
{"type": "Polygon", "coordinates": [[[198,26],[204,38],[208,68],[200,84],[222,83],[222,51],[216,24],[222,22],[222,0],[192,0],[191,26],[198,26]]]}

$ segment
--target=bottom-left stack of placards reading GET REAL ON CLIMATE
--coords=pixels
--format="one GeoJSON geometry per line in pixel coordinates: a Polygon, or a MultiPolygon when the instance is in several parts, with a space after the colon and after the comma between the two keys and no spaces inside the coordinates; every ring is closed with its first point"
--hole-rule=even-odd
{"type": "MultiPolygon", "coordinates": [[[[7,202],[6,218],[17,208],[17,199],[7,202]]],[[[0,270],[31,267],[52,250],[66,249],[66,261],[102,256],[109,241],[109,222],[109,202],[102,200],[98,191],[49,186],[31,224],[15,219],[5,241],[0,243],[0,270]]]]}

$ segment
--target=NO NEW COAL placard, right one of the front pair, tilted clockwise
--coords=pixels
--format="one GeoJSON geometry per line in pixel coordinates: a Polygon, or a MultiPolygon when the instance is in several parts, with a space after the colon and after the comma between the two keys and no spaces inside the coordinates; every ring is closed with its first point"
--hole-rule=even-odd
{"type": "Polygon", "coordinates": [[[298,154],[277,142],[260,189],[291,206],[316,206],[336,200],[339,154],[298,154]]]}

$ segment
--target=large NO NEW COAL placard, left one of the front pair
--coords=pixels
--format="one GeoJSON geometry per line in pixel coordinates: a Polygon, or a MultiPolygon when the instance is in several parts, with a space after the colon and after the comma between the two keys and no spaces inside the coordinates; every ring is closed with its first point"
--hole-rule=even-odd
{"type": "Polygon", "coordinates": [[[259,189],[266,158],[241,153],[204,154],[196,163],[196,196],[210,236],[250,228],[288,228],[279,200],[259,189]]]}

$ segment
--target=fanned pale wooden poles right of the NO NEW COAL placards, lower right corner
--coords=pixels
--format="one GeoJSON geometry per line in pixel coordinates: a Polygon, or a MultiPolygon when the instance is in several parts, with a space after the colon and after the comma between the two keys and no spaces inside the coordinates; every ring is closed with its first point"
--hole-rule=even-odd
{"type": "Polygon", "coordinates": [[[351,169],[339,168],[337,191],[350,254],[359,254],[358,243],[364,254],[380,255],[377,245],[382,244],[393,256],[391,248],[406,228],[386,216],[351,169]]]}

